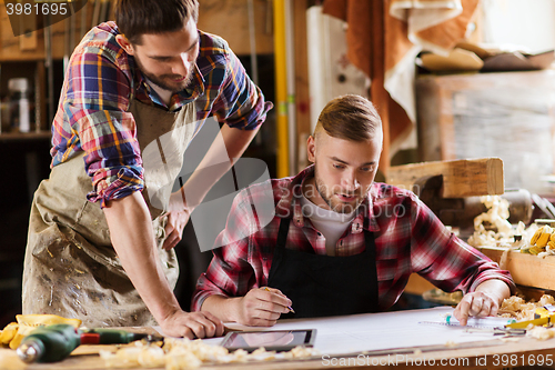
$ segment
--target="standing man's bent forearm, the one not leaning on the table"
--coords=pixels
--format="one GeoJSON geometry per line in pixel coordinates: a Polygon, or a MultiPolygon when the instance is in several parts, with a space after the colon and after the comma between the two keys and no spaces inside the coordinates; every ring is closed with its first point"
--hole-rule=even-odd
{"type": "Polygon", "coordinates": [[[235,161],[244,153],[252,139],[259,132],[255,130],[239,130],[224,124],[220,130],[221,138],[216,137],[196,170],[181,189],[186,206],[194,209],[202,202],[210,189],[228,172],[235,161]],[[222,146],[221,140],[225,146],[222,146]],[[222,158],[229,159],[222,161],[222,158]]]}

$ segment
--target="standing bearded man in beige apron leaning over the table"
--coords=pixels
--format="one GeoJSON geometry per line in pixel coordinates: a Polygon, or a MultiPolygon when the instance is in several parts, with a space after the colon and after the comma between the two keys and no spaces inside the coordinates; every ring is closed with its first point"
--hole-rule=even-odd
{"type": "MultiPolygon", "coordinates": [[[[52,171],[32,203],[23,313],[88,327],[160,324],[213,337],[222,322],[184,312],[173,247],[214,182],[171,187],[209,116],[222,123],[199,167],[241,157],[272,108],[228,43],[196,29],[196,0],[118,0],[115,22],[75,48],[52,123],[52,171]],[[194,197],[190,197],[194,194],[194,197]]],[[[230,163],[231,167],[231,163],[230,163]]],[[[210,226],[206,226],[210,227],[210,226]]]]}

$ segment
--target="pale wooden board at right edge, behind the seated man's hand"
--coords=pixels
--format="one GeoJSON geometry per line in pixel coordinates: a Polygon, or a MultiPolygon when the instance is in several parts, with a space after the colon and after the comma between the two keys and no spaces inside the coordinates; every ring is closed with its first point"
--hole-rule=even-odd
{"type": "Polygon", "coordinates": [[[511,272],[516,284],[555,290],[555,257],[539,258],[534,254],[509,251],[502,262],[503,248],[478,248],[485,256],[511,272]]]}

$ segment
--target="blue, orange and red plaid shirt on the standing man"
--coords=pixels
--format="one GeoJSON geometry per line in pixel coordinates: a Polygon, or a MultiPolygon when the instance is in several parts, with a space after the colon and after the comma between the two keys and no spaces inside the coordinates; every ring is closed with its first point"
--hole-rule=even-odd
{"type": "Polygon", "coordinates": [[[272,108],[228,43],[202,31],[193,82],[174,93],[167,107],[134,58],[115,41],[119,33],[114,22],[105,22],[81,40],[71,56],[52,123],[51,167],[84,151],[93,184],[88,198],[100,200],[102,207],[109,199],[144,188],[137,126],[128,112],[133,98],[169,111],[195,100],[198,120],[215,114],[220,122],[244,130],[260,126],[272,108]]]}

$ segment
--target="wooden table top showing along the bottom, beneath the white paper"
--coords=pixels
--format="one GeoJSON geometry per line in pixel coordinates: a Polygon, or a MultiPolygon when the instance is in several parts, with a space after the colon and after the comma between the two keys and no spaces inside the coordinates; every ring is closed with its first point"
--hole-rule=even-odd
{"type": "MultiPolygon", "coordinates": [[[[114,346],[81,346],[65,360],[56,363],[23,363],[16,351],[0,348],[0,369],[2,370],[97,370],[105,369],[104,361],[98,356],[100,349],[114,349],[114,346]]],[[[351,357],[320,356],[305,360],[281,360],[231,364],[208,364],[203,369],[365,369],[374,366],[392,369],[414,369],[441,367],[445,369],[503,369],[527,366],[548,366],[555,368],[555,338],[537,340],[519,337],[517,341],[494,339],[487,342],[465,343],[443,350],[415,349],[413,353],[391,352],[389,354],[356,354],[351,357]]],[[[129,368],[128,368],[129,369],[129,368]]],[[[137,369],[137,368],[131,368],[137,369]]],[[[163,368],[157,368],[163,369],[163,368]]]]}

